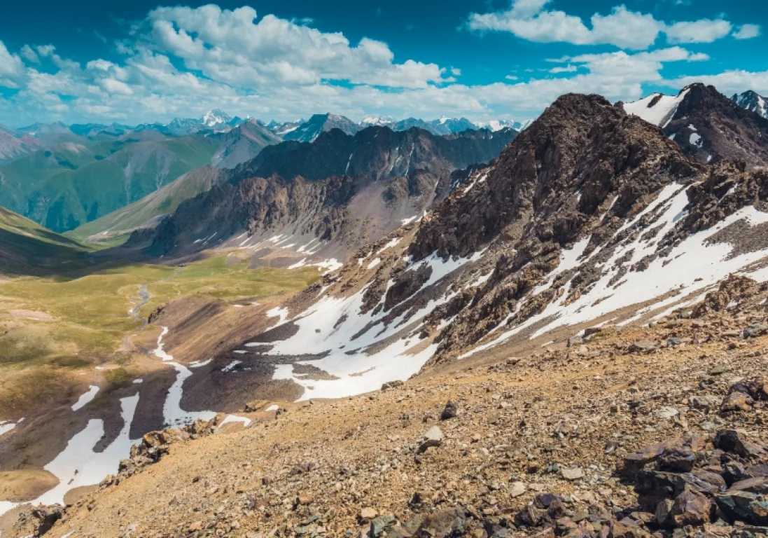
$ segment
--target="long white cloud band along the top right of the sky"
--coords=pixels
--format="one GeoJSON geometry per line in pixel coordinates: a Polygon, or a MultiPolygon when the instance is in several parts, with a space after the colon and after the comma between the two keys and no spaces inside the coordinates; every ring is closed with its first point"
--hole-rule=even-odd
{"type": "MultiPolygon", "coordinates": [[[[545,10],[550,2],[512,0],[505,11],[470,14],[466,24],[477,32],[510,32],[531,42],[615,45],[634,50],[649,48],[660,33],[666,34],[667,42],[673,44],[711,43],[729,35],[733,28],[730,22],[710,19],[667,25],[654,15],[632,12],[624,5],[617,5],[608,15],[595,13],[589,28],[580,17],[563,11],[545,10]]],[[[746,28],[744,32],[750,35],[754,29],[746,28]]]]}

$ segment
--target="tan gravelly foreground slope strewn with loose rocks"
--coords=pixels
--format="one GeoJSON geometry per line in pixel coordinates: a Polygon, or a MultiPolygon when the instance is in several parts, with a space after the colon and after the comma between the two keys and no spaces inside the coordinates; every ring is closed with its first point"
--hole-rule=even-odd
{"type": "Polygon", "coordinates": [[[145,436],[63,517],[27,509],[8,536],[44,514],[57,538],[752,533],[760,505],[732,506],[766,480],[768,340],[737,333],[765,297],[729,281],[652,328],[507,346],[361,397],[253,401],[145,436]]]}

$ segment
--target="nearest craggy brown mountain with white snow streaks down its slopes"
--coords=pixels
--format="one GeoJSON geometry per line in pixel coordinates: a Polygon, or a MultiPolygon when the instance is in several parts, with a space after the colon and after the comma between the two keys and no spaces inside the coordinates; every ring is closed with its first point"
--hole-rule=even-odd
{"type": "Polygon", "coordinates": [[[604,98],[565,95],[420,221],[286,304],[252,360],[311,353],[322,376],[276,376],[337,397],[509,341],[651,319],[733,271],[766,280],[765,184],[745,164],[697,163],[604,98]]]}

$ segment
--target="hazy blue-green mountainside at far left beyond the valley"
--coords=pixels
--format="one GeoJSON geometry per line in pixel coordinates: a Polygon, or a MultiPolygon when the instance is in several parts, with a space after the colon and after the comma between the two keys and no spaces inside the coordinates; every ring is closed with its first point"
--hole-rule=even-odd
{"type": "Polygon", "coordinates": [[[53,231],[94,221],[209,164],[217,141],[98,137],[45,148],[0,166],[0,205],[53,231]]]}

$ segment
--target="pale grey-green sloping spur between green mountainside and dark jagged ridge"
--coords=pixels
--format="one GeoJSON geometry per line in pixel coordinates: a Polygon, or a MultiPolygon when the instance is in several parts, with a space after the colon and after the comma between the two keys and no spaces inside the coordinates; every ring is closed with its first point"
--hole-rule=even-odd
{"type": "Polygon", "coordinates": [[[141,200],[112,211],[95,221],[81,224],[66,235],[78,241],[104,246],[121,244],[132,231],[150,226],[161,215],[173,213],[181,202],[194,198],[201,192],[209,191],[214,184],[222,180],[223,172],[218,168],[213,166],[195,168],[165,187],[147,194],[141,200]]]}

